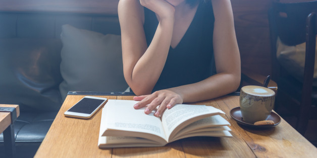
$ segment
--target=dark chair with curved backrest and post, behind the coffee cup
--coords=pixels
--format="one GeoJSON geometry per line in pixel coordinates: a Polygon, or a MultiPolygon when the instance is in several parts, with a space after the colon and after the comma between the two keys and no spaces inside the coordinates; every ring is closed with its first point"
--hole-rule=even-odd
{"type": "MultiPolygon", "coordinates": [[[[312,100],[312,82],[316,44],[317,1],[303,3],[273,3],[269,11],[271,47],[273,59],[273,80],[279,81],[287,72],[279,66],[276,54],[277,37],[282,43],[294,46],[306,42],[305,66],[299,102],[296,129],[304,134],[307,128],[312,100]]],[[[279,82],[278,82],[279,85],[279,82]]],[[[291,84],[289,86],[292,86],[291,84]]],[[[280,87],[280,86],[279,86],[280,87]]],[[[279,92],[278,91],[278,95],[279,92]]],[[[279,96],[278,96],[279,97],[279,96]]],[[[294,97],[294,96],[292,96],[294,97]]],[[[285,104],[285,102],[284,102],[285,104]]]]}

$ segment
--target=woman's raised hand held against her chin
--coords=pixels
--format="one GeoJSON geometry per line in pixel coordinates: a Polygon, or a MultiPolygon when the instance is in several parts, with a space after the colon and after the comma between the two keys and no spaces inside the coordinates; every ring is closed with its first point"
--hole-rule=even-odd
{"type": "Polygon", "coordinates": [[[165,0],[140,0],[140,4],[156,13],[160,20],[174,18],[175,8],[165,0]]]}

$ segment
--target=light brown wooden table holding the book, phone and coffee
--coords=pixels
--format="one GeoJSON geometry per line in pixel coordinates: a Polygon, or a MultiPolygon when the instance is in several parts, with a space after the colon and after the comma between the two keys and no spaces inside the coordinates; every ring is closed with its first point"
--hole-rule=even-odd
{"type": "MultiPolygon", "coordinates": [[[[191,137],[163,147],[99,149],[97,143],[101,110],[88,120],[64,116],[64,112],[83,97],[84,95],[67,96],[35,157],[315,157],[317,155],[317,148],[283,119],[278,126],[271,129],[255,130],[239,126],[229,113],[232,108],[239,105],[238,96],[225,96],[194,103],[223,110],[226,115],[222,116],[231,123],[233,137],[191,137]]],[[[96,97],[133,99],[133,96],[96,97]]]]}

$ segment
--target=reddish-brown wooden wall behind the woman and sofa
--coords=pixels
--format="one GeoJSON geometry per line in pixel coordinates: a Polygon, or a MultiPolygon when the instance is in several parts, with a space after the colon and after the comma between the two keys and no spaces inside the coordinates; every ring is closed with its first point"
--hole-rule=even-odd
{"type": "MultiPolygon", "coordinates": [[[[271,74],[268,10],[275,0],[231,0],[242,71],[271,74]]],[[[280,0],[304,2],[307,0],[280,0]]],[[[70,12],[117,15],[119,0],[0,0],[0,12],[70,12]]]]}

